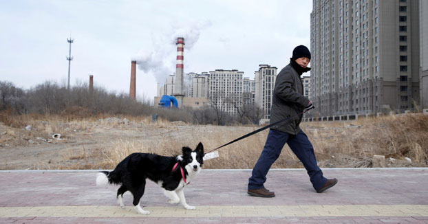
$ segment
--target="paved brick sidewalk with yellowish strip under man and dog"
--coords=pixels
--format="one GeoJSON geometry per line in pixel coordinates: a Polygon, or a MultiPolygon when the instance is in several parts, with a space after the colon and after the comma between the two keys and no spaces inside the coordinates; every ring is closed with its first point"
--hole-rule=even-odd
{"type": "Polygon", "coordinates": [[[274,198],[250,197],[250,170],[203,170],[184,190],[184,210],[149,182],[136,214],[132,196],[95,186],[96,170],[1,171],[0,223],[428,223],[428,168],[323,169],[339,183],[321,194],[305,170],[271,170],[274,198]]]}

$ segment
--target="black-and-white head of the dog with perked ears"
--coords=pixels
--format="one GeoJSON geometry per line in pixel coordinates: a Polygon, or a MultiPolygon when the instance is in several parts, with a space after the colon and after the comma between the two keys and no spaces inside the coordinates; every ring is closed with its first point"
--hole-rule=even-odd
{"type": "Polygon", "coordinates": [[[186,168],[189,175],[200,172],[204,165],[204,146],[202,143],[199,143],[195,150],[191,150],[189,147],[183,147],[181,158],[181,164],[186,168]]]}

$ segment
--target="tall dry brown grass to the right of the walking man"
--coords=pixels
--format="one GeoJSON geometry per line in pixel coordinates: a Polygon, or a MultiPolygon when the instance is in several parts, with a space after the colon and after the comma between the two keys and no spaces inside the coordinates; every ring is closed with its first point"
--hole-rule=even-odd
{"type": "MultiPolygon", "coordinates": [[[[312,143],[319,158],[332,155],[352,161],[351,167],[370,167],[373,155],[411,158],[427,166],[428,115],[407,114],[363,118],[354,122],[316,123],[312,143]]],[[[334,159],[330,159],[334,160],[334,159]]]]}

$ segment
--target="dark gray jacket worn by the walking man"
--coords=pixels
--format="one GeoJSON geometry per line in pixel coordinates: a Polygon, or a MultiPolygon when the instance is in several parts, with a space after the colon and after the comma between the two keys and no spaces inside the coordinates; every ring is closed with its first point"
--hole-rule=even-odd
{"type": "MultiPolygon", "coordinates": [[[[273,91],[272,108],[270,109],[270,124],[286,117],[293,117],[303,112],[309,104],[308,98],[303,96],[303,83],[292,65],[287,65],[277,75],[275,89],[273,91]]],[[[296,116],[292,120],[281,122],[271,129],[283,131],[291,135],[300,132],[299,124],[303,115],[296,116]]]]}

